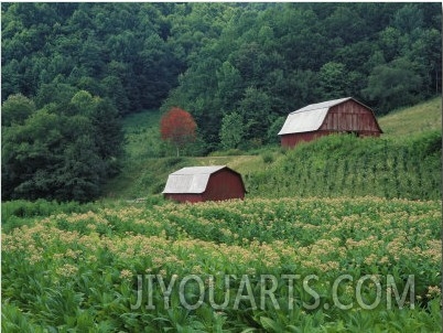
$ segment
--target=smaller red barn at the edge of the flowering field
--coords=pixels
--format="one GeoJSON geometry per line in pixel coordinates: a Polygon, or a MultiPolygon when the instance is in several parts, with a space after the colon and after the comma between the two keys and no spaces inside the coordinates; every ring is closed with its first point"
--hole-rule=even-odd
{"type": "Polygon", "coordinates": [[[163,191],[165,198],[177,202],[244,198],[241,175],[226,165],[191,166],[171,173],[163,191]]]}

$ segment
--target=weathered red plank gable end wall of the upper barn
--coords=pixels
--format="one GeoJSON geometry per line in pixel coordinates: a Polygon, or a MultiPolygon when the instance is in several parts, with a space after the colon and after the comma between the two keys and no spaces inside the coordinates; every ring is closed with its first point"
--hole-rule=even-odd
{"type": "Polygon", "coordinates": [[[380,135],[372,111],[352,99],[332,107],[320,130],[352,131],[360,136],[380,135]]]}

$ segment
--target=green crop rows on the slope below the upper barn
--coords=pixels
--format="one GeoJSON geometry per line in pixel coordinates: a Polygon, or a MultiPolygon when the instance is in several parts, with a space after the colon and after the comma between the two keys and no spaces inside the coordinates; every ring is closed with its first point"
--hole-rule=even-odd
{"type": "Polygon", "coordinates": [[[441,198],[441,133],[396,142],[331,136],[289,151],[268,170],[245,173],[250,195],[441,198]]]}

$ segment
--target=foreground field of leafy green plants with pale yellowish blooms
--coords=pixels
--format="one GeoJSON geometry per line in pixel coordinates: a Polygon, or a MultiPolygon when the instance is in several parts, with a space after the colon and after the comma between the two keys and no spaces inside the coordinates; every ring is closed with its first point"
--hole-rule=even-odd
{"type": "Polygon", "coordinates": [[[54,213],[2,234],[1,326],[440,332],[441,219],[377,197],[54,213]]]}

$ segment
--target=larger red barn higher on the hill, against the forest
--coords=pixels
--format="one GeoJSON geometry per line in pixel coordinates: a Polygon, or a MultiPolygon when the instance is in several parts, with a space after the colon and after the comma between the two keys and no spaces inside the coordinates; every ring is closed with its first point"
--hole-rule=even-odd
{"type": "Polygon", "coordinates": [[[279,136],[282,147],[294,147],[331,133],[379,137],[382,133],[372,109],[346,97],[311,104],[289,114],[279,136]]]}

